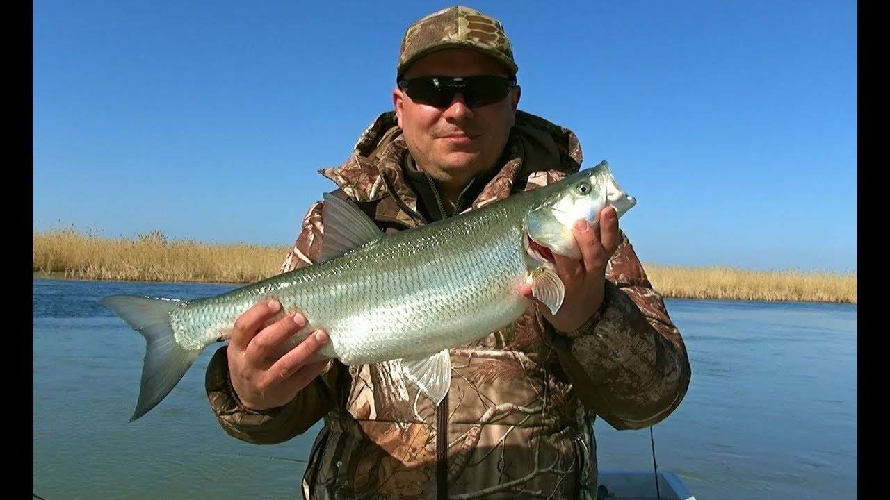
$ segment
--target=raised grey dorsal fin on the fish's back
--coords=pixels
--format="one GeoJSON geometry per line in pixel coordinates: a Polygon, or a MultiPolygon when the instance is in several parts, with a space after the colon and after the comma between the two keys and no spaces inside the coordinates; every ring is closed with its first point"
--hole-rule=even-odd
{"type": "Polygon", "coordinates": [[[383,236],[374,223],[348,200],[325,193],[321,221],[325,238],[321,241],[319,262],[325,262],[383,236]]]}

